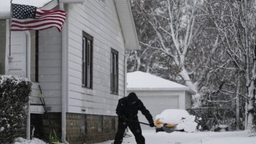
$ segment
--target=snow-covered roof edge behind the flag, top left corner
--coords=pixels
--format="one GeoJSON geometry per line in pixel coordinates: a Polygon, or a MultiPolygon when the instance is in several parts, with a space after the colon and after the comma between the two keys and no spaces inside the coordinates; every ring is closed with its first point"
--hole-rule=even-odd
{"type": "MultiPolygon", "coordinates": [[[[44,7],[54,0],[12,0],[12,3],[20,5],[32,5],[35,7],[44,7]]],[[[1,0],[0,18],[9,18],[11,16],[11,0],[1,0]]]]}

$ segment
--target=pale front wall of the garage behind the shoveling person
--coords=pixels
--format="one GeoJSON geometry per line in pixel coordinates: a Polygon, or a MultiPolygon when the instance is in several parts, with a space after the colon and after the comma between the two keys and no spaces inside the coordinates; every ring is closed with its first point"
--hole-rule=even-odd
{"type": "MultiPolygon", "coordinates": [[[[153,119],[155,120],[156,115],[159,115],[165,109],[180,109],[179,108],[179,97],[182,96],[182,91],[127,91],[135,92],[139,99],[144,103],[144,106],[153,119]]],[[[139,112],[139,120],[141,122],[148,122],[144,115],[139,112]]],[[[150,129],[149,126],[141,125],[142,129],[147,130],[150,129]]]]}

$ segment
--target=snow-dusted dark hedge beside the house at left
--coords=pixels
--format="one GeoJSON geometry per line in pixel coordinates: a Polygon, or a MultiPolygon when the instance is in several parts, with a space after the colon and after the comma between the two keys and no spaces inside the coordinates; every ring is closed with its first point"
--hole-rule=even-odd
{"type": "Polygon", "coordinates": [[[20,76],[0,75],[0,143],[24,136],[26,108],[32,82],[20,76]]]}

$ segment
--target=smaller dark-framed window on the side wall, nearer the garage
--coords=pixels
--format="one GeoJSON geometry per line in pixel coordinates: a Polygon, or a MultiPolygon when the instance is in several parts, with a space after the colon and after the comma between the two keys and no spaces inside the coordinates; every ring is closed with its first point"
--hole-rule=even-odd
{"type": "Polygon", "coordinates": [[[118,94],[118,52],[111,50],[111,94],[118,94]]]}

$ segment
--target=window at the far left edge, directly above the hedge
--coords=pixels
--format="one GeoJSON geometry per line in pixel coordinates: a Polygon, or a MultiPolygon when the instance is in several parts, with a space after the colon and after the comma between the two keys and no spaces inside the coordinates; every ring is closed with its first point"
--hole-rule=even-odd
{"type": "Polygon", "coordinates": [[[5,75],[6,21],[0,20],[0,75],[5,75]]]}

